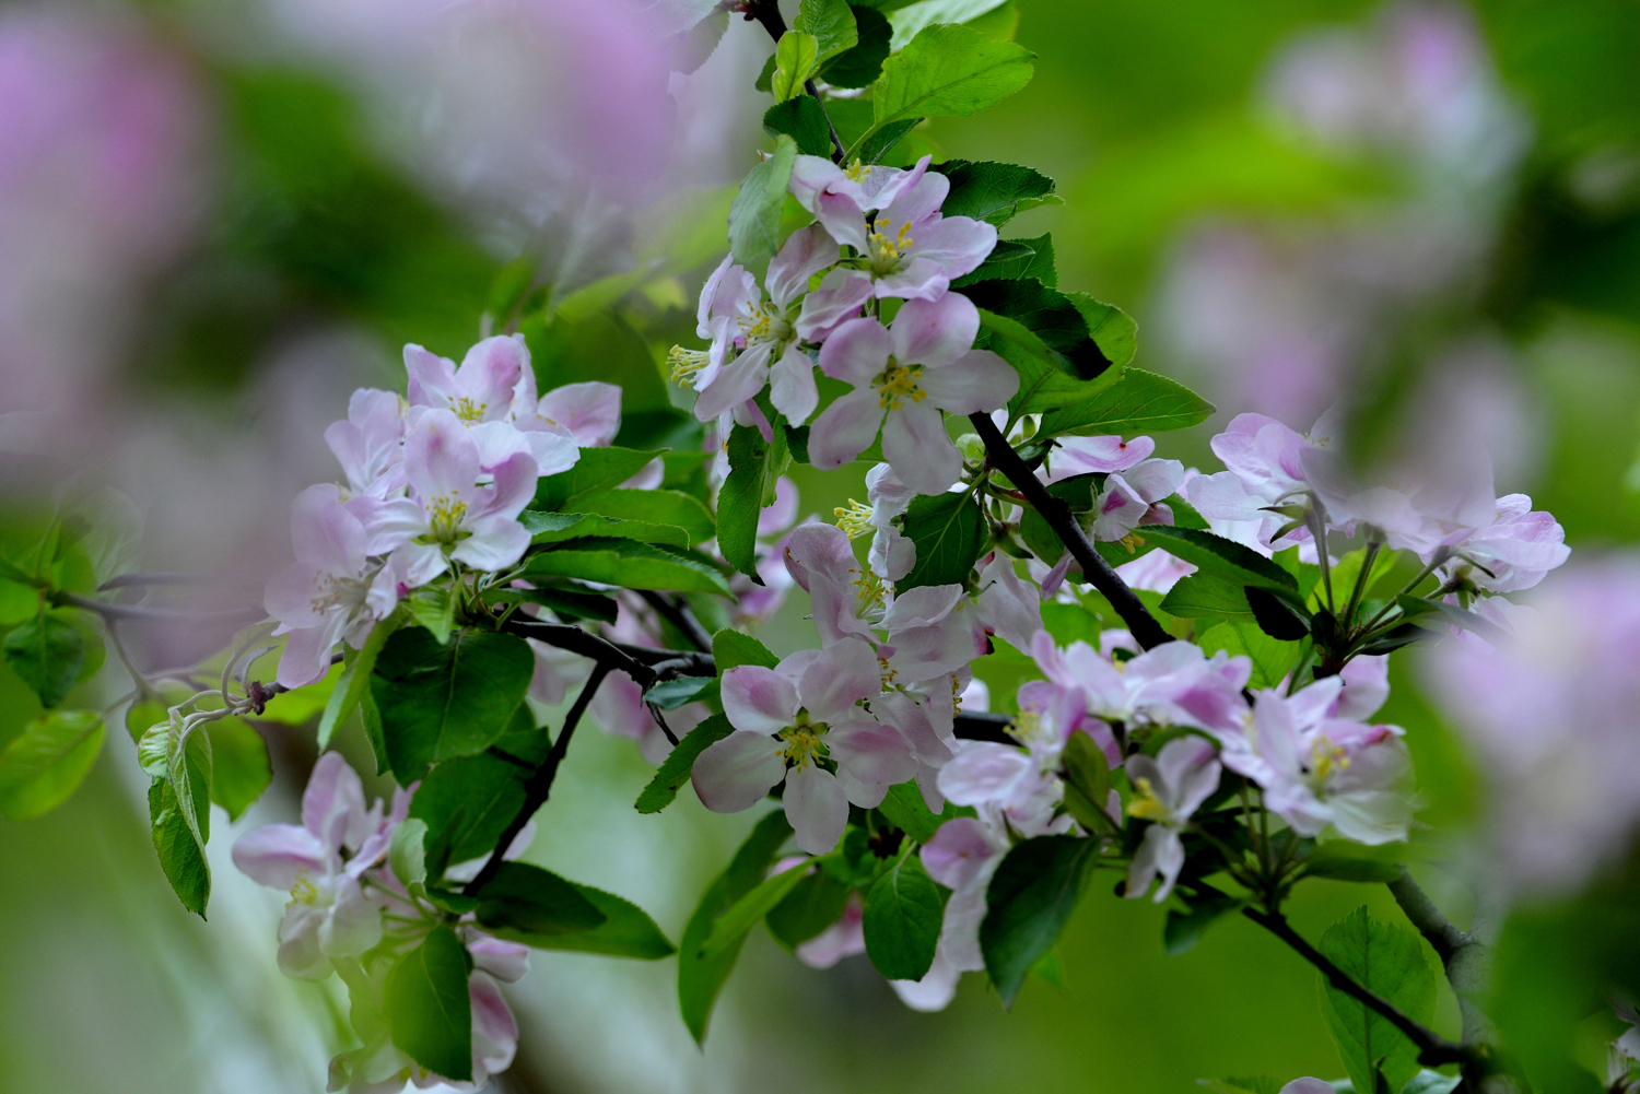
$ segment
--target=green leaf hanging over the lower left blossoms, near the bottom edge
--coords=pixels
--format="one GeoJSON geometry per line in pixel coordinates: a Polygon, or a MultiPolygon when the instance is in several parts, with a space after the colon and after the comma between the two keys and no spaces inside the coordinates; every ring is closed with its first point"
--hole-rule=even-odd
{"type": "Polygon", "coordinates": [[[472,958],[449,927],[435,927],[387,974],[394,1045],[446,1079],[472,1078],[472,958]]]}

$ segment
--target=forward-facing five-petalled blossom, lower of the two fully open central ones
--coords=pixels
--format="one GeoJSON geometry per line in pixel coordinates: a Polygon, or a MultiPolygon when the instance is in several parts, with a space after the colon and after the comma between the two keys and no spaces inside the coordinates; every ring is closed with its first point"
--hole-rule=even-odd
{"type": "Polygon", "coordinates": [[[772,669],[735,666],[722,694],[735,733],[700,753],[695,792],[707,809],[735,814],[786,779],[786,817],[805,851],[836,846],[850,802],[871,809],[917,773],[900,732],[858,705],[882,694],[877,658],[863,641],[794,653],[772,669]]]}

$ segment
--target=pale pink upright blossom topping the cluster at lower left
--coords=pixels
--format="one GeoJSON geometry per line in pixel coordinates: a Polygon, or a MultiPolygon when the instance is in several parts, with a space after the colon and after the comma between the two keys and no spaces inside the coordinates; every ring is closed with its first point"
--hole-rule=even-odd
{"type": "Polygon", "coordinates": [[[279,923],[285,976],[323,979],[331,958],[356,956],[382,940],[382,905],[359,886],[387,855],[380,828],[382,804],[366,810],[359,776],[339,753],[325,753],[302,794],[300,825],[266,825],[235,841],[235,866],[290,892],[279,923]]]}

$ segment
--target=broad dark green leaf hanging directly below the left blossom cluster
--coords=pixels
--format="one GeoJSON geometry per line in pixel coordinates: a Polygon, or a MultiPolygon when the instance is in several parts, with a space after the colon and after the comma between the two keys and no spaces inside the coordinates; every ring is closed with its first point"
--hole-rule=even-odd
{"type": "Polygon", "coordinates": [[[431,763],[489,748],[531,676],[535,654],[512,635],[461,630],[441,646],[421,627],[394,631],[376,659],[371,697],[399,784],[423,777],[431,763]]]}

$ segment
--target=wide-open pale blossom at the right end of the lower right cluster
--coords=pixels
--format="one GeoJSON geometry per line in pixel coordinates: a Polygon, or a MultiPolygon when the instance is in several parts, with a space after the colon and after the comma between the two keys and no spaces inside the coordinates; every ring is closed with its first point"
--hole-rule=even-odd
{"type": "Polygon", "coordinates": [[[1333,717],[1342,691],[1332,676],[1292,695],[1256,692],[1246,728],[1220,733],[1223,764],[1256,782],[1264,805],[1299,835],[1333,825],[1358,843],[1405,840],[1412,805],[1402,730],[1333,717]]]}

